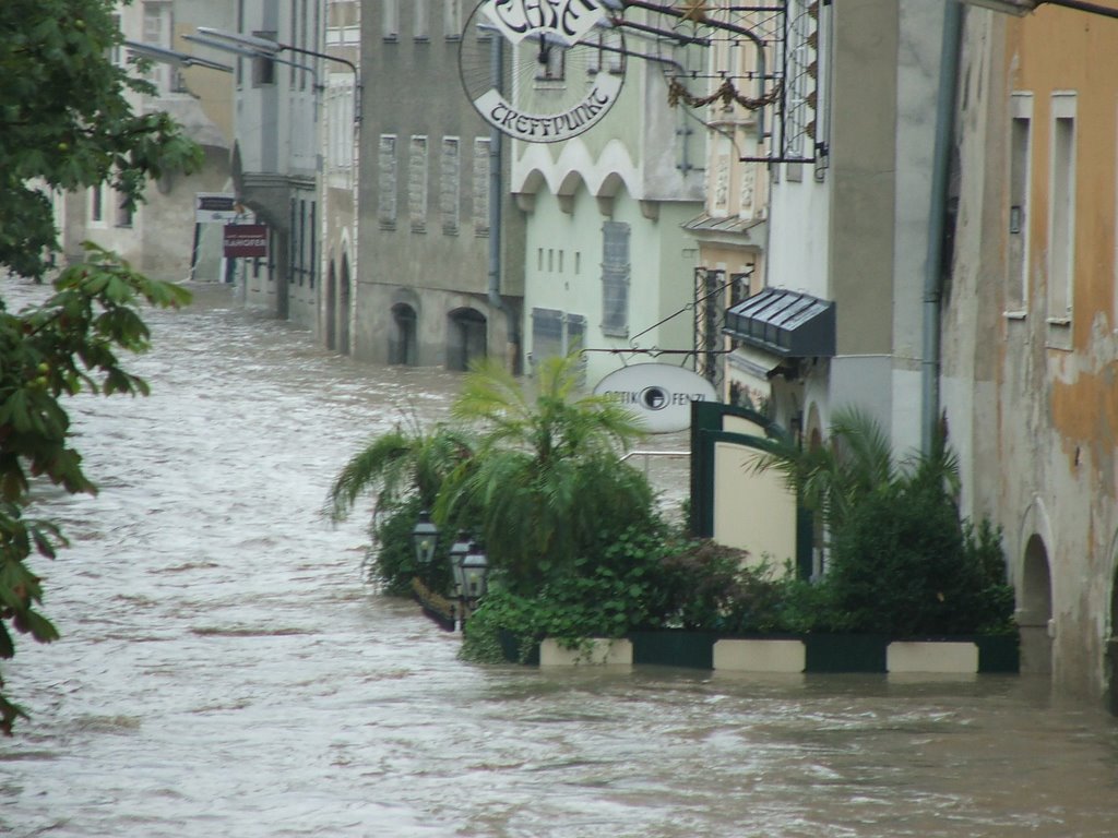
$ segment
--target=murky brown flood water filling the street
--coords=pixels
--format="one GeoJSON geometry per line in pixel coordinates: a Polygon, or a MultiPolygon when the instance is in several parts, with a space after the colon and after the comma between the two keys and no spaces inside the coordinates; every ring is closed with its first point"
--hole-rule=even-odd
{"type": "Polygon", "coordinates": [[[364,582],[361,516],[321,516],[457,379],[332,356],[222,288],[150,322],[153,394],[73,404],[101,494],[37,510],[73,542],[36,565],[64,638],[4,666],[32,717],[0,740],[0,834],[1118,835],[1118,724],[1029,678],[459,661],[364,582]]]}

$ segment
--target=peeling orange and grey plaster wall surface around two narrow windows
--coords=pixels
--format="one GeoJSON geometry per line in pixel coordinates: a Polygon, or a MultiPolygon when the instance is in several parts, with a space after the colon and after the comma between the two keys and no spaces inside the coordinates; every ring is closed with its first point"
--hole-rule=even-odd
{"type": "MultiPolygon", "coordinates": [[[[1036,577],[1026,565],[1030,550],[1035,554],[1035,545],[1042,545],[1051,578],[1053,683],[1061,692],[1090,697],[1100,697],[1107,688],[1105,649],[1114,632],[1110,603],[1118,533],[1116,36],[1118,21],[1055,7],[1041,7],[1021,21],[968,16],[972,67],[980,60],[992,65],[987,98],[975,105],[988,108],[989,122],[984,125],[976,117],[964,123],[964,238],[945,321],[945,345],[959,344],[945,359],[950,361],[945,372],[957,377],[951,392],[963,389],[968,378],[984,378],[979,359],[988,358],[993,365],[997,445],[993,457],[988,447],[975,449],[976,464],[994,460],[992,469],[974,467],[975,494],[994,498],[992,514],[1005,528],[1018,606],[1043,602],[1031,589],[1036,577]],[[1032,94],[1031,188],[1024,218],[1031,269],[1024,310],[1007,312],[1016,308],[1005,305],[1013,279],[1005,151],[1014,92],[1032,94]],[[1061,308],[1050,307],[1055,280],[1049,254],[1053,120],[1067,114],[1055,104],[1067,103],[1068,94],[1074,94],[1076,225],[1071,316],[1064,321],[1061,308]],[[992,137],[985,149],[977,142],[983,131],[992,137]],[[993,172],[985,182],[984,166],[993,172]],[[972,227],[982,227],[987,242],[976,242],[979,231],[972,227]],[[989,298],[984,285],[997,288],[998,296],[989,298]],[[975,305],[975,317],[960,312],[975,305]]],[[[966,402],[957,399],[953,409],[966,410],[966,402]]],[[[983,407],[972,412],[976,428],[985,425],[983,407]]]]}

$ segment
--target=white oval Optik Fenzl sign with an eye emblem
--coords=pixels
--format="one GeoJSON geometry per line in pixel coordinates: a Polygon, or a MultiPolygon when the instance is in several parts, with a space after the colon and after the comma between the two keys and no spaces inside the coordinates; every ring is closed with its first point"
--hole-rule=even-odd
{"type": "Polygon", "coordinates": [[[606,375],[595,396],[609,396],[629,408],[652,434],[691,427],[692,401],[718,401],[714,385],[697,372],[671,364],[634,364],[606,375]]]}

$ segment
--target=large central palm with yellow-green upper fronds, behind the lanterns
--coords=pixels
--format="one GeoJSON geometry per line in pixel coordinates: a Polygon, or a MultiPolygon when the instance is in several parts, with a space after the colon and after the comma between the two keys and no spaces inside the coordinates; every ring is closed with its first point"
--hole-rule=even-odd
{"type": "Polygon", "coordinates": [[[622,463],[644,436],[618,402],[578,392],[578,353],[540,364],[534,394],[486,361],[466,375],[451,415],[477,429],[477,447],[444,485],[436,518],[477,510],[490,561],[530,590],[569,573],[609,533],[653,514],[644,475],[622,463]]]}

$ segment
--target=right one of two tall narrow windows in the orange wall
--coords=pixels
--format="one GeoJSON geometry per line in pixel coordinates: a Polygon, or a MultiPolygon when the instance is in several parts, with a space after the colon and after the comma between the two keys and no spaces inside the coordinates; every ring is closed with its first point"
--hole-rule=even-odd
{"type": "Polygon", "coordinates": [[[1076,260],[1076,97],[1052,96],[1052,164],[1049,185],[1049,320],[1067,323],[1072,308],[1076,260]]]}

